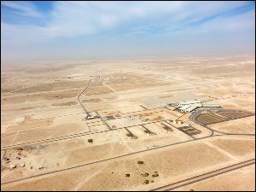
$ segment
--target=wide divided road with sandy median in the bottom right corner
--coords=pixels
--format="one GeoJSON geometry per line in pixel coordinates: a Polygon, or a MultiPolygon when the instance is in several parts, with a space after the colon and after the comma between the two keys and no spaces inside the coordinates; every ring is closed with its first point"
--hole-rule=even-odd
{"type": "Polygon", "coordinates": [[[215,176],[218,176],[218,175],[223,174],[225,172],[231,172],[231,171],[239,169],[241,167],[250,166],[250,165],[253,165],[253,164],[255,164],[255,159],[243,161],[241,163],[238,163],[238,164],[235,164],[235,165],[232,165],[232,166],[226,166],[224,168],[215,170],[213,172],[207,172],[207,173],[199,175],[199,176],[190,177],[190,178],[187,178],[183,181],[179,181],[177,183],[167,184],[163,187],[153,189],[152,191],[163,191],[163,190],[167,191],[167,190],[181,188],[181,187],[189,185],[191,183],[196,183],[196,182],[202,181],[204,179],[207,179],[207,178],[210,178],[210,177],[215,177],[215,176]]]}

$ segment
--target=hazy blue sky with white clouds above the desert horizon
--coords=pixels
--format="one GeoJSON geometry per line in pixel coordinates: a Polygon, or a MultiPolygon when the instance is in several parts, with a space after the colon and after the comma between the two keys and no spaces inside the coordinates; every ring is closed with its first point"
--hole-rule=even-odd
{"type": "Polygon", "coordinates": [[[254,51],[254,2],[1,1],[1,63],[254,51]]]}

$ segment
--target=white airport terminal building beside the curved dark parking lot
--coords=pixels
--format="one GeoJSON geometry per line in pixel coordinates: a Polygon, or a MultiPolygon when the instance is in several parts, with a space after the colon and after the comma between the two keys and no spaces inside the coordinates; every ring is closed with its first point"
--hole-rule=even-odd
{"type": "Polygon", "coordinates": [[[179,102],[177,107],[181,113],[193,113],[196,108],[221,108],[218,104],[204,103],[199,100],[179,102]]]}

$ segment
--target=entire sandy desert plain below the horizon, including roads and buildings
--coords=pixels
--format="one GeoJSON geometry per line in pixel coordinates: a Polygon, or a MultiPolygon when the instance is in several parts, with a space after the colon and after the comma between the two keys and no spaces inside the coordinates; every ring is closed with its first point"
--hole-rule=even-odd
{"type": "Polygon", "coordinates": [[[1,66],[1,190],[255,190],[254,60],[1,66]]]}

